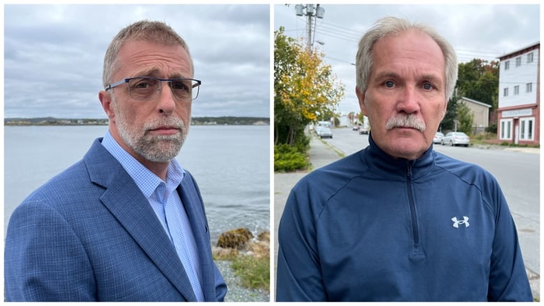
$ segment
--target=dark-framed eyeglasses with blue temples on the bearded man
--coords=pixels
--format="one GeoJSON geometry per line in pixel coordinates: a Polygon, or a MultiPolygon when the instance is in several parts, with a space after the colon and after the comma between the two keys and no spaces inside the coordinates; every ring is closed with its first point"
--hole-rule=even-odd
{"type": "Polygon", "coordinates": [[[178,100],[195,100],[201,81],[198,79],[159,79],[157,77],[129,77],[109,84],[106,90],[128,83],[128,94],[135,100],[154,100],[160,95],[163,82],[168,82],[174,98],[178,100]]]}

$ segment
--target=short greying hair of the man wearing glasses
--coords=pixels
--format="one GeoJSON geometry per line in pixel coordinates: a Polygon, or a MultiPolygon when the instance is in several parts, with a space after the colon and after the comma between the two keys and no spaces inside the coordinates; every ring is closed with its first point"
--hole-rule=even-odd
{"type": "Polygon", "coordinates": [[[114,37],[112,43],[107,47],[106,55],[104,56],[104,68],[102,75],[102,82],[104,87],[107,87],[116,80],[112,79],[114,72],[119,69],[119,50],[123,47],[123,44],[128,41],[144,40],[150,43],[158,43],[163,45],[181,45],[183,49],[189,54],[191,61],[191,73],[194,74],[194,68],[192,65],[192,58],[189,53],[189,47],[185,40],[164,22],[154,22],[148,20],[142,20],[135,22],[121,29],[119,33],[114,37]]]}

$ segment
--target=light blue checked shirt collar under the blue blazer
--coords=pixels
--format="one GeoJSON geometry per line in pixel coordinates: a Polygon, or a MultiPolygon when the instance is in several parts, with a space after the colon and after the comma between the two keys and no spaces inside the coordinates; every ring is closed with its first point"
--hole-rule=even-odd
{"type": "Polygon", "coordinates": [[[130,155],[130,153],[125,151],[125,149],[117,143],[109,130],[107,130],[106,135],[104,136],[102,145],[117,161],[119,161],[128,175],[133,178],[139,190],[141,190],[147,198],[151,197],[151,194],[153,194],[160,183],[165,183],[167,190],[174,190],[186,176],[185,170],[179,165],[176,158],[173,158],[168,165],[166,182],[164,182],[142,165],[142,163],[136,160],[133,155],[130,155]]]}

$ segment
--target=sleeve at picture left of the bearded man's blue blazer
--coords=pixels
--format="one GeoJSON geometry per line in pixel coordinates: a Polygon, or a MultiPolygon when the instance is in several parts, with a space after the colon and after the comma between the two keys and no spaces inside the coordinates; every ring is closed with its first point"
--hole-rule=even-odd
{"type": "Polygon", "coordinates": [[[4,250],[6,301],[93,301],[92,268],[61,214],[40,201],[10,217],[4,250]]]}

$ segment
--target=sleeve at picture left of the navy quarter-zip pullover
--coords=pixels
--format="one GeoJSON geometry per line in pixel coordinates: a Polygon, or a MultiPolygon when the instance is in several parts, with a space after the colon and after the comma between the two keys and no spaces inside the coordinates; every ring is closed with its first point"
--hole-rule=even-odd
{"type": "Polygon", "coordinates": [[[308,188],[289,194],[278,228],[278,302],[325,301],[308,188]]]}

